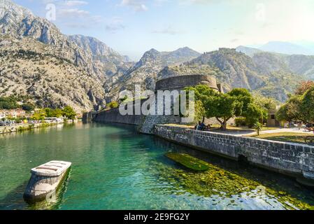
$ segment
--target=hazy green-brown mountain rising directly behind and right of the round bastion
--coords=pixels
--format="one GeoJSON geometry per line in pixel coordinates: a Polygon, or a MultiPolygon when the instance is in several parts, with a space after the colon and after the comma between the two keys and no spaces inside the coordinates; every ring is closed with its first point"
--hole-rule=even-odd
{"type": "Polygon", "coordinates": [[[158,77],[203,73],[215,76],[223,83],[225,91],[234,87],[244,87],[285,102],[287,94],[293,92],[299,80],[303,80],[302,76],[287,69],[280,61],[280,57],[276,58],[276,54],[267,59],[254,59],[256,55],[262,55],[262,52],[257,51],[253,57],[249,57],[236,49],[220,48],[217,51],[206,52],[180,66],[168,66],[158,74],[158,77]]]}

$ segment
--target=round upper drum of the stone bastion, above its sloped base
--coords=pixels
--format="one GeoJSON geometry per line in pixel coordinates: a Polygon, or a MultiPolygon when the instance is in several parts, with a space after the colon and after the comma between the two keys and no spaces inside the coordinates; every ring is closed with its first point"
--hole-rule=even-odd
{"type": "Polygon", "coordinates": [[[185,76],[172,76],[158,80],[156,89],[158,90],[183,90],[185,87],[193,87],[195,85],[207,85],[213,90],[223,92],[222,85],[217,84],[216,78],[208,75],[185,75],[185,76]]]}

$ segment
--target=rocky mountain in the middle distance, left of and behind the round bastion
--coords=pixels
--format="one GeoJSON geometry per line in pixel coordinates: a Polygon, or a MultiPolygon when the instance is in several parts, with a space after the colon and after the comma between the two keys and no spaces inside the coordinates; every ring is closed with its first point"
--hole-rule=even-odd
{"type": "Polygon", "coordinates": [[[182,64],[201,55],[190,48],[179,48],[172,52],[159,52],[151,49],[127,72],[113,76],[105,85],[107,98],[117,99],[123,90],[134,90],[139,84],[143,90],[155,90],[157,74],[165,66],[182,64]]]}

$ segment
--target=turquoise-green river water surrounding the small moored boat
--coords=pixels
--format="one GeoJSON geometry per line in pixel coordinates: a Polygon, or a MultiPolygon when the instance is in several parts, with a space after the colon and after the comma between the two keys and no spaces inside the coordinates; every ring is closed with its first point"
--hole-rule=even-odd
{"type": "Polygon", "coordinates": [[[0,135],[0,209],[313,209],[313,190],[285,176],[138,134],[127,125],[59,125],[0,135]],[[188,153],[193,173],[164,156],[188,153]],[[30,169],[72,162],[55,202],[29,205],[30,169]]]}

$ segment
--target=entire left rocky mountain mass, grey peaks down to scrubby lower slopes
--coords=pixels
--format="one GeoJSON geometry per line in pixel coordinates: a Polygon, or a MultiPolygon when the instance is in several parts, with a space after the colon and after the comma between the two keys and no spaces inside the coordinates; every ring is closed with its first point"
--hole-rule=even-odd
{"type": "Polygon", "coordinates": [[[0,41],[0,96],[27,94],[39,106],[92,110],[104,104],[108,77],[133,66],[101,41],[66,36],[10,0],[0,1],[0,41]]]}

